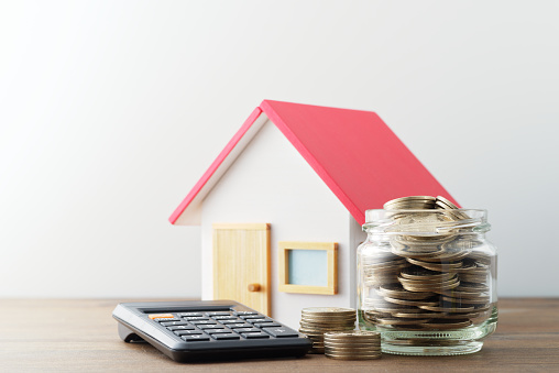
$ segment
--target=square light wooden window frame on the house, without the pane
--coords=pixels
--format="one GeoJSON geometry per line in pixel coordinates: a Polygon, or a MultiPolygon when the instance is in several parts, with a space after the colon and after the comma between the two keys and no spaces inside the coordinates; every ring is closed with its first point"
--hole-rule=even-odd
{"type": "Polygon", "coordinates": [[[337,242],[305,242],[280,241],[278,246],[278,290],[300,294],[338,294],[338,243],[337,242]],[[327,257],[327,285],[296,285],[289,284],[289,250],[321,250],[327,257]]]}

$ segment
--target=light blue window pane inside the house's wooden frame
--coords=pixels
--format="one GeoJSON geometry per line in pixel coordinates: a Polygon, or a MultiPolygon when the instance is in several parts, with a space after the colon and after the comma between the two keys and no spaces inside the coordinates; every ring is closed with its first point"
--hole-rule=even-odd
{"type": "Polygon", "coordinates": [[[288,284],[328,286],[326,250],[288,250],[288,284]]]}

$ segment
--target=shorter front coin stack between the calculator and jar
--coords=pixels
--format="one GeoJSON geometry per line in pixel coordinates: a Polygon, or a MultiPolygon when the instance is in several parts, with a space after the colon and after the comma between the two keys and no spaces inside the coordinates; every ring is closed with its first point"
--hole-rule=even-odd
{"type": "Polygon", "coordinates": [[[325,354],[338,360],[371,360],[381,358],[381,334],[374,331],[325,333],[325,354]]]}

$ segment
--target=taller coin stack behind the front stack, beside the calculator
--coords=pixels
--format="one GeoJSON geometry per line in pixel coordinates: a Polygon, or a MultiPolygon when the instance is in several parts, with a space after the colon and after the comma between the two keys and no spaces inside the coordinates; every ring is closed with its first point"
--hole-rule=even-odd
{"type": "Polygon", "coordinates": [[[355,328],[355,310],[338,307],[304,308],[300,315],[299,332],[313,340],[311,353],[324,353],[324,333],[348,331],[355,328]]]}

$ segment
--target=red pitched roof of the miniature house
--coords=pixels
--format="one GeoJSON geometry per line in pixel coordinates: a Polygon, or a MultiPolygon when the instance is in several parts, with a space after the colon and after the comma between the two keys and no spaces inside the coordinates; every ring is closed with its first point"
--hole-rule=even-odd
{"type": "MultiPolygon", "coordinates": [[[[376,113],[264,100],[173,212],[172,223],[182,215],[198,213],[198,205],[211,189],[209,182],[218,182],[224,173],[220,168],[227,169],[240,154],[240,147],[248,143],[243,136],[250,136],[248,132],[262,113],[280,129],[360,224],[365,221],[365,210],[382,208],[384,202],[397,197],[443,196],[456,204],[376,113]]],[[[186,220],[199,223],[198,219],[186,220]]]]}

